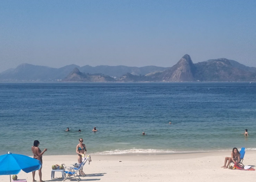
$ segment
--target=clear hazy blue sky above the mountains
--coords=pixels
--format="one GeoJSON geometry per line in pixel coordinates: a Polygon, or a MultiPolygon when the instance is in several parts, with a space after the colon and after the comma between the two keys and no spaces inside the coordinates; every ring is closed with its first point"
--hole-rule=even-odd
{"type": "Polygon", "coordinates": [[[256,67],[256,1],[0,1],[0,72],[21,63],[256,67]]]}

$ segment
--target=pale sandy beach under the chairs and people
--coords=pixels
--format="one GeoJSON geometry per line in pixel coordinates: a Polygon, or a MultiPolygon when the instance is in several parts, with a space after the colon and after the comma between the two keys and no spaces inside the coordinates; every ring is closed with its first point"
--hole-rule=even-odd
{"type": "MultiPolygon", "coordinates": [[[[90,165],[85,164],[86,177],[81,181],[254,181],[256,171],[223,169],[224,158],[231,152],[186,153],[166,155],[92,155],[90,165]]],[[[51,166],[76,162],[76,155],[43,156],[43,180],[62,181],[56,172],[51,180],[51,166]]],[[[244,165],[256,165],[256,152],[247,151],[244,165]]],[[[19,179],[32,181],[31,173],[18,174],[19,179]]],[[[36,172],[36,180],[39,180],[36,172]]],[[[0,176],[0,182],[8,182],[9,176],[0,176]]],[[[66,181],[76,181],[68,178],[66,181]]]]}

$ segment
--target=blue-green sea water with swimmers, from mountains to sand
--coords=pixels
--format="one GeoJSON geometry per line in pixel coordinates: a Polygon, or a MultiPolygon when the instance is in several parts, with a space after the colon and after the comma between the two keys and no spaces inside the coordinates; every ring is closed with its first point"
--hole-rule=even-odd
{"type": "Polygon", "coordinates": [[[0,129],[0,154],[256,150],[256,83],[0,83],[0,129]]]}

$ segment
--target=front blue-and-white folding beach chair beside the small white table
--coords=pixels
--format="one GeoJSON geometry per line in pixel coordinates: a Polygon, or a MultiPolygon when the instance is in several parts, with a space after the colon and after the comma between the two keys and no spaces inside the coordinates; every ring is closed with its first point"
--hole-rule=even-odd
{"type": "Polygon", "coordinates": [[[65,171],[64,171],[64,173],[66,175],[65,175],[65,178],[63,179],[63,181],[65,181],[68,176],[69,177],[74,177],[74,178],[76,178],[77,181],[80,181],[81,178],[79,177],[79,172],[82,170],[84,164],[86,163],[86,161],[88,161],[88,159],[89,158],[87,157],[84,161],[82,161],[81,164],[72,164],[73,167],[66,167],[65,171]]]}

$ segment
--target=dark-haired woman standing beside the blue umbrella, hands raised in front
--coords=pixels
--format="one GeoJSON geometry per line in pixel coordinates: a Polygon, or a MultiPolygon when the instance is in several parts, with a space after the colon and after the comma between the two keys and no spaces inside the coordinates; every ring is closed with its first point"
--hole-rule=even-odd
{"type": "MultiPolygon", "coordinates": [[[[45,148],[42,152],[40,150],[40,148],[38,147],[39,144],[40,144],[40,142],[38,140],[35,140],[34,145],[31,147],[31,150],[32,150],[32,153],[34,155],[33,158],[37,159],[41,162],[41,168],[38,170],[38,174],[39,174],[40,182],[43,182],[43,180],[42,180],[42,165],[43,165],[42,156],[43,156],[43,153],[45,153],[47,151],[47,148],[45,148]]],[[[36,181],[35,180],[35,171],[32,172],[32,176],[33,176],[33,181],[36,181]]]]}

